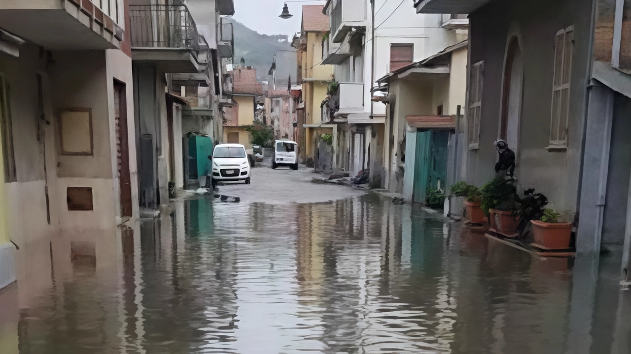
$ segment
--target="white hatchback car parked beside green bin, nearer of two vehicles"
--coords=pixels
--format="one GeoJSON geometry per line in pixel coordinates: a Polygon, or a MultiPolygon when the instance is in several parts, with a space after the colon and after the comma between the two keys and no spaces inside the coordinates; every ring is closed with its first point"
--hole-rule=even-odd
{"type": "Polygon", "coordinates": [[[219,144],[213,150],[213,180],[250,184],[250,162],[241,144],[219,144]]]}

